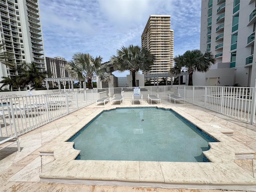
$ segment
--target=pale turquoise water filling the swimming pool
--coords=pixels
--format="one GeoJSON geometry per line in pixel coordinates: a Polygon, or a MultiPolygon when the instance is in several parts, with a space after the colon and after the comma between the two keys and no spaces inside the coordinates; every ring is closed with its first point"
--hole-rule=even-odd
{"type": "Polygon", "coordinates": [[[179,117],[157,108],[105,111],[70,141],[81,160],[203,162],[210,140],[179,117]]]}

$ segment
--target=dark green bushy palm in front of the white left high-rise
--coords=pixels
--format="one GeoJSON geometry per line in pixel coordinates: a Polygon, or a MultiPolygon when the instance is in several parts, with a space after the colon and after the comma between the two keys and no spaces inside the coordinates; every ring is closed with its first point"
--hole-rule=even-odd
{"type": "Polygon", "coordinates": [[[42,86],[42,82],[50,72],[47,71],[40,71],[36,67],[36,62],[26,63],[23,62],[22,65],[23,70],[21,70],[19,82],[23,86],[30,85],[32,89],[40,88],[42,86]]]}

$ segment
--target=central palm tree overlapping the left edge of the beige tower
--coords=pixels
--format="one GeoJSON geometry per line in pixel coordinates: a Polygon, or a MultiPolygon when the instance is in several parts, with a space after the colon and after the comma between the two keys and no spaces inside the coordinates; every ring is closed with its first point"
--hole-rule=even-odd
{"type": "Polygon", "coordinates": [[[111,57],[111,64],[114,65],[115,70],[124,72],[129,70],[132,72],[132,86],[136,87],[135,72],[139,70],[149,71],[155,56],[145,48],[130,45],[122,47],[121,50],[116,51],[117,56],[111,57]]]}

